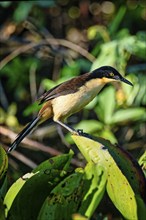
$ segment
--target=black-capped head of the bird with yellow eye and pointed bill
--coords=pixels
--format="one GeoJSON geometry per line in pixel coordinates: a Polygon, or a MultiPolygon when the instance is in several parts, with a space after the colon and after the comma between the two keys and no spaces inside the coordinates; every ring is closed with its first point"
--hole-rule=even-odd
{"type": "Polygon", "coordinates": [[[93,70],[91,73],[93,78],[98,78],[101,80],[101,83],[108,83],[112,81],[122,81],[131,86],[133,84],[125,79],[115,68],[111,66],[102,66],[98,69],[93,70]]]}

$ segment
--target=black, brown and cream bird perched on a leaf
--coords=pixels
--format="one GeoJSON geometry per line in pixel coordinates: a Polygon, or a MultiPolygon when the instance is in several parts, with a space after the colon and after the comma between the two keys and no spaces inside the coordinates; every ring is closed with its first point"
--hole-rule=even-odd
{"type": "Polygon", "coordinates": [[[13,151],[34,128],[50,118],[72,134],[80,135],[79,131],[65,124],[64,120],[83,109],[107,83],[113,81],[121,81],[133,86],[115,68],[102,66],[91,72],[69,79],[45,92],[38,99],[42,107],[36,118],[18,134],[17,138],[8,148],[7,153],[13,151]]]}

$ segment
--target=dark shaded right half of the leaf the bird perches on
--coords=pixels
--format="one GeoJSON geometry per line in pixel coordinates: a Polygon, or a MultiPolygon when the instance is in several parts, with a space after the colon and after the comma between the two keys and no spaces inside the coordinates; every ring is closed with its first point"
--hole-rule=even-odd
{"type": "Polygon", "coordinates": [[[109,141],[101,138],[96,138],[96,140],[108,148],[110,155],[114,158],[123,175],[126,176],[135,195],[140,196],[144,200],[146,195],[146,183],[138,162],[127,151],[117,145],[113,145],[109,141]]]}

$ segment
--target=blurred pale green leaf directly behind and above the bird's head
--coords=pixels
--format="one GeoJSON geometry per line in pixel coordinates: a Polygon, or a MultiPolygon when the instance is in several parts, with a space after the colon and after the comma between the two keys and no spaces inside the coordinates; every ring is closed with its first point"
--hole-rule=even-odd
{"type": "Polygon", "coordinates": [[[122,70],[124,72],[130,56],[135,55],[145,59],[145,51],[145,41],[137,36],[125,36],[124,38],[104,43],[101,46],[100,54],[93,62],[91,70],[103,65],[110,65],[115,68],[118,66],[119,71],[122,70]]]}

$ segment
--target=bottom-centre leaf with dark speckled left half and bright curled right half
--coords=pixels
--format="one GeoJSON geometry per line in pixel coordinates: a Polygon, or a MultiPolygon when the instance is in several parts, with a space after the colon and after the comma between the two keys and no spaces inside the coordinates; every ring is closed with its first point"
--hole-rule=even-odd
{"type": "Polygon", "coordinates": [[[71,219],[73,213],[91,217],[103,197],[105,183],[106,174],[97,164],[88,163],[84,171],[76,169],[51,191],[38,220],[71,219]]]}

